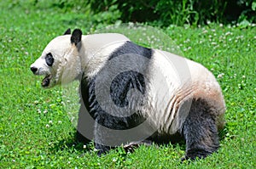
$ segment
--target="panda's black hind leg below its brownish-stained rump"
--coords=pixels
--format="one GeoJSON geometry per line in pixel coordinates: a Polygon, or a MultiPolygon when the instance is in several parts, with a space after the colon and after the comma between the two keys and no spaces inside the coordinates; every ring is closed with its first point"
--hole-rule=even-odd
{"type": "Polygon", "coordinates": [[[205,158],[219,147],[217,112],[205,100],[194,99],[189,115],[183,123],[183,137],[186,141],[186,155],[182,160],[205,158]]]}

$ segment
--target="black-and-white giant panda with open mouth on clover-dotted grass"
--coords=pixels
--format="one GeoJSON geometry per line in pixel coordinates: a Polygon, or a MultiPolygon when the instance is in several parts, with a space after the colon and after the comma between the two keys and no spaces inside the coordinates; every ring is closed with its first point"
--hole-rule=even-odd
{"type": "Polygon", "coordinates": [[[31,65],[42,87],[79,80],[78,138],[98,155],[119,145],[183,138],[183,160],[218,150],[224,96],[204,66],[117,33],[82,35],[68,29],[31,65]],[[84,138],[84,139],[83,139],[84,138]]]}

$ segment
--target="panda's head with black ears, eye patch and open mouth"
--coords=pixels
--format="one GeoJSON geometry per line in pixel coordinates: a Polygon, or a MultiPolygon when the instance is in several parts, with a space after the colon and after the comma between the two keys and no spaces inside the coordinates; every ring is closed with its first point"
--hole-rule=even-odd
{"type": "Polygon", "coordinates": [[[44,76],[42,87],[72,82],[79,76],[82,31],[76,29],[70,34],[68,29],[63,36],[55,37],[31,65],[30,69],[34,75],[44,76]]]}

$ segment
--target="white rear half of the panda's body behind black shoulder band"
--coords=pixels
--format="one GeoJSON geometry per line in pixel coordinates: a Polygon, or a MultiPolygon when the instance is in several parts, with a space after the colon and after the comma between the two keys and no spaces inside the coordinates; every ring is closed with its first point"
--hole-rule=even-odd
{"type": "MultiPolygon", "coordinates": [[[[175,134],[183,126],[195,100],[204,100],[207,109],[222,126],[224,97],[215,77],[204,66],[189,59],[155,50],[150,66],[148,116],[160,134],[175,134]],[[158,71],[157,71],[158,70],[158,71]]],[[[201,104],[203,105],[203,104],[201,104]]]]}

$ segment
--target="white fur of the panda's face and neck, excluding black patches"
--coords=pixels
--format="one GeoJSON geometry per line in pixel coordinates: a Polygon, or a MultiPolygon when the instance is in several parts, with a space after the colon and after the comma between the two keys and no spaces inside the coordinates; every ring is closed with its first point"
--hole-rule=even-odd
{"type": "Polygon", "coordinates": [[[127,37],[114,33],[83,36],[83,45],[78,51],[76,46],[70,42],[70,38],[71,35],[55,37],[44,48],[40,58],[31,65],[31,67],[38,68],[35,72],[36,75],[51,76],[51,81],[47,87],[73,82],[82,70],[87,70],[89,75],[96,74],[107,59],[106,57],[128,40],[127,37]],[[102,41],[102,39],[104,40],[102,41]],[[104,46],[111,42],[115,42],[115,45],[105,49],[104,46]],[[102,57],[96,57],[95,53],[100,48],[104,49],[102,51],[104,54],[102,57]],[[55,64],[52,67],[45,63],[45,56],[49,53],[53,54],[55,59],[55,64]],[[94,59],[91,60],[91,58],[94,59]],[[89,60],[90,65],[87,64],[89,60]],[[63,75],[63,73],[68,73],[68,75],[63,75]]]}

